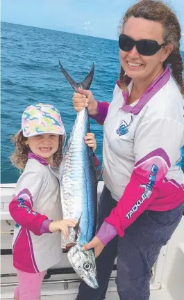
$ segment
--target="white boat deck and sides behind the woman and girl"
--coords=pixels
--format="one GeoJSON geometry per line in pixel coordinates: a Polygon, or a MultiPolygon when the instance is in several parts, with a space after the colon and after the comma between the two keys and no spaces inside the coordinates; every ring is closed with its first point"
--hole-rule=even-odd
{"type": "MultiPolygon", "coordinates": [[[[15,184],[0,184],[1,189],[1,299],[12,300],[17,285],[15,268],[12,265],[12,232],[15,222],[8,211],[15,184]]],[[[103,182],[98,184],[98,198],[103,182]]],[[[150,300],[184,299],[184,216],[172,239],[163,246],[152,269],[150,300]]],[[[62,251],[60,262],[49,269],[42,283],[42,299],[74,300],[81,281],[62,251]]],[[[118,300],[116,284],[116,262],[108,285],[106,300],[118,300]]],[[[135,299],[136,300],[136,299],[135,299]]]]}

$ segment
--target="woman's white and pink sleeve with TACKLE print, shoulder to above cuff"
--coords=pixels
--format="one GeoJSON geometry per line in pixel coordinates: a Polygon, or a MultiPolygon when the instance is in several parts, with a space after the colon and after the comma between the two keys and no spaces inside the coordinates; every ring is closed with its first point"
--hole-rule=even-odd
{"type": "Polygon", "coordinates": [[[182,139],[183,124],[172,118],[153,119],[138,127],[134,137],[135,166],[131,180],[117,207],[105,219],[121,237],[124,230],[158,198],[160,185],[170,166],[176,165],[180,158],[182,139]]]}

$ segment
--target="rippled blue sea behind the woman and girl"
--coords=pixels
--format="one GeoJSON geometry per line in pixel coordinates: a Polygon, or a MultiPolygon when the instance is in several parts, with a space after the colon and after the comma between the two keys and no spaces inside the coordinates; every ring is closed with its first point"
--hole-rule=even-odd
{"type": "MultiPolygon", "coordinates": [[[[182,56],[184,59],[183,52],[182,56]]],[[[14,150],[10,138],[21,128],[26,106],[53,104],[61,113],[67,136],[72,131],[76,118],[73,90],[60,72],[58,60],[78,82],[94,63],[91,90],[97,100],[112,100],[119,76],[116,40],[1,22],[1,183],[13,183],[19,177],[19,171],[10,164],[14,150]]],[[[90,122],[102,161],[103,127],[90,122]]]]}

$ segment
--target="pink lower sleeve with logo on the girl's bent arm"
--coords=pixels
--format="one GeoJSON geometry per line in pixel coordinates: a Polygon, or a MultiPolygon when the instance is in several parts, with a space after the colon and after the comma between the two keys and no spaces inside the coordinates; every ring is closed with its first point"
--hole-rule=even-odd
{"type": "Polygon", "coordinates": [[[9,205],[10,215],[23,228],[31,230],[35,235],[42,235],[40,228],[47,216],[34,212],[32,195],[28,189],[19,192],[9,205]]]}

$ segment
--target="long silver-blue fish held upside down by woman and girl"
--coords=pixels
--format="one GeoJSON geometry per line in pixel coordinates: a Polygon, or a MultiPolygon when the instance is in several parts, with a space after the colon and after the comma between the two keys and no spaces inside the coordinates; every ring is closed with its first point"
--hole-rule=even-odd
{"type": "MultiPolygon", "coordinates": [[[[81,84],[76,83],[61,64],[60,69],[76,93],[78,87],[85,90],[90,88],[94,64],[81,84]]],[[[90,287],[97,288],[94,251],[81,251],[81,246],[94,236],[97,216],[97,171],[92,148],[84,142],[87,132],[90,132],[90,121],[88,109],[84,108],[77,113],[60,168],[63,219],[78,221],[76,228],[69,228],[67,240],[62,235],[62,248],[69,248],[68,260],[78,276],[90,287]]]]}

